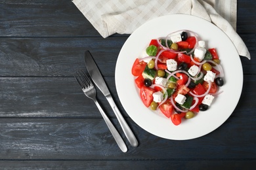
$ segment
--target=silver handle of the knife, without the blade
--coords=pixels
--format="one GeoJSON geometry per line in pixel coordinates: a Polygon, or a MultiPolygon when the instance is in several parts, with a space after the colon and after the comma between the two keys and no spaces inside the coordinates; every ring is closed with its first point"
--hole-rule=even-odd
{"type": "Polygon", "coordinates": [[[131,131],[131,128],[128,126],[127,122],[125,122],[125,119],[121,115],[121,112],[118,110],[116,103],[114,102],[111,95],[106,96],[106,99],[108,99],[108,103],[110,103],[110,106],[112,107],[114,113],[116,114],[117,120],[119,124],[121,125],[121,128],[123,129],[123,132],[125,133],[125,136],[127,137],[129,143],[131,146],[136,147],[138,146],[138,141],[133,134],[133,131],[131,131]]]}

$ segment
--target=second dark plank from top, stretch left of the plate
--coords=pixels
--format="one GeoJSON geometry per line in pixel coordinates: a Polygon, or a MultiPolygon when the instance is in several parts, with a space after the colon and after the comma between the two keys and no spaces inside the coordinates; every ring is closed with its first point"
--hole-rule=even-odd
{"type": "Polygon", "coordinates": [[[85,69],[90,50],[104,76],[114,76],[116,60],[127,37],[1,39],[1,76],[73,76],[85,69]]]}

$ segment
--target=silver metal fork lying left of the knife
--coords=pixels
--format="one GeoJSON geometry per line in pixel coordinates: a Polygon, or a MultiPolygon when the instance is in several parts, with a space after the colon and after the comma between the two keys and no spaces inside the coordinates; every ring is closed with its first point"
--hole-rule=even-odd
{"type": "Polygon", "coordinates": [[[75,79],[77,80],[78,84],[81,86],[83,93],[90,99],[93,99],[95,101],[96,106],[98,107],[98,110],[100,110],[100,113],[106,122],[108,129],[110,129],[110,132],[112,133],[114,139],[116,140],[117,145],[123,152],[127,152],[127,146],[125,145],[125,142],[119,135],[118,131],[116,130],[116,127],[110,122],[110,119],[104,112],[104,110],[100,107],[100,104],[98,103],[96,99],[96,89],[91,80],[88,78],[87,75],[82,70],[76,71],[74,73],[75,79]]]}

